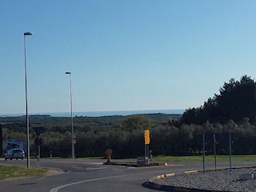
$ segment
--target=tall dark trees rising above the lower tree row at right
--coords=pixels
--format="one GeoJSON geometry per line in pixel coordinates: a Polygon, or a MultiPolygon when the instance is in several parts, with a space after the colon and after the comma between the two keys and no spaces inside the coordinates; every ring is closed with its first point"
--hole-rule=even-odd
{"type": "Polygon", "coordinates": [[[182,115],[182,122],[186,124],[202,125],[206,121],[225,123],[230,119],[241,122],[243,118],[254,121],[256,116],[256,83],[244,75],[240,81],[231,78],[225,82],[203,106],[186,110],[182,115]]]}

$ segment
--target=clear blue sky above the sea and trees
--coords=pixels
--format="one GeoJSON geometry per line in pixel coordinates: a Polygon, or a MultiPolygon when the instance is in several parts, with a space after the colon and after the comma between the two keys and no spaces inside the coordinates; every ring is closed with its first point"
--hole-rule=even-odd
{"type": "Polygon", "coordinates": [[[256,73],[256,2],[0,1],[0,114],[187,109],[256,73]]]}

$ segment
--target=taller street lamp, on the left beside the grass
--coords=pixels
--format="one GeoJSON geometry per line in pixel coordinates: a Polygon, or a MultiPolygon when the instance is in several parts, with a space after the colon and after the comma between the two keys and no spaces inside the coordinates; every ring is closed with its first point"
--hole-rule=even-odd
{"type": "Polygon", "coordinates": [[[27,68],[26,68],[26,35],[33,35],[31,32],[24,33],[24,55],[25,55],[25,87],[26,87],[26,168],[30,169],[30,126],[27,108],[27,68]]]}

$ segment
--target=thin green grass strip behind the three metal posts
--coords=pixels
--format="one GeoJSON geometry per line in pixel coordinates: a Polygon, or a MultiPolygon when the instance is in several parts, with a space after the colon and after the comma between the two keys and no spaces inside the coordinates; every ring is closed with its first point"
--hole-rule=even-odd
{"type": "MultiPolygon", "coordinates": [[[[213,162],[214,155],[206,155],[206,162],[213,162]]],[[[201,162],[201,156],[156,156],[153,158],[155,162],[201,162]]],[[[217,155],[218,162],[229,162],[229,155],[217,155]]],[[[232,155],[233,162],[255,162],[256,155],[232,155]]]]}

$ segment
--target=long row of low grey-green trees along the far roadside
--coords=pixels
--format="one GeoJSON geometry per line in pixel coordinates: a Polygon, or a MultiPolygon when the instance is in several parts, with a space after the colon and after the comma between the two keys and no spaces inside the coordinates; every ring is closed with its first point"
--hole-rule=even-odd
{"type": "MultiPolygon", "coordinates": [[[[75,122],[75,118],[74,118],[75,122]]],[[[144,130],[150,129],[150,150],[154,155],[194,155],[202,153],[202,134],[206,134],[206,151],[213,153],[213,134],[217,133],[218,154],[228,154],[228,133],[232,133],[233,154],[256,154],[256,128],[244,118],[237,124],[233,120],[225,124],[206,122],[202,125],[180,124],[178,120],[154,124],[143,115],[125,118],[121,124],[109,127],[74,126],[77,134],[76,157],[102,157],[106,149],[113,150],[114,158],[136,158],[144,154],[144,130]]],[[[8,132],[3,129],[3,138],[26,138],[23,132],[8,132]]],[[[37,154],[34,144],[36,135],[30,133],[31,154],[37,154]]],[[[70,127],[53,130],[46,129],[41,134],[42,157],[53,156],[68,158],[71,155],[70,127]],[[58,131],[56,131],[58,130],[58,131]]]]}

